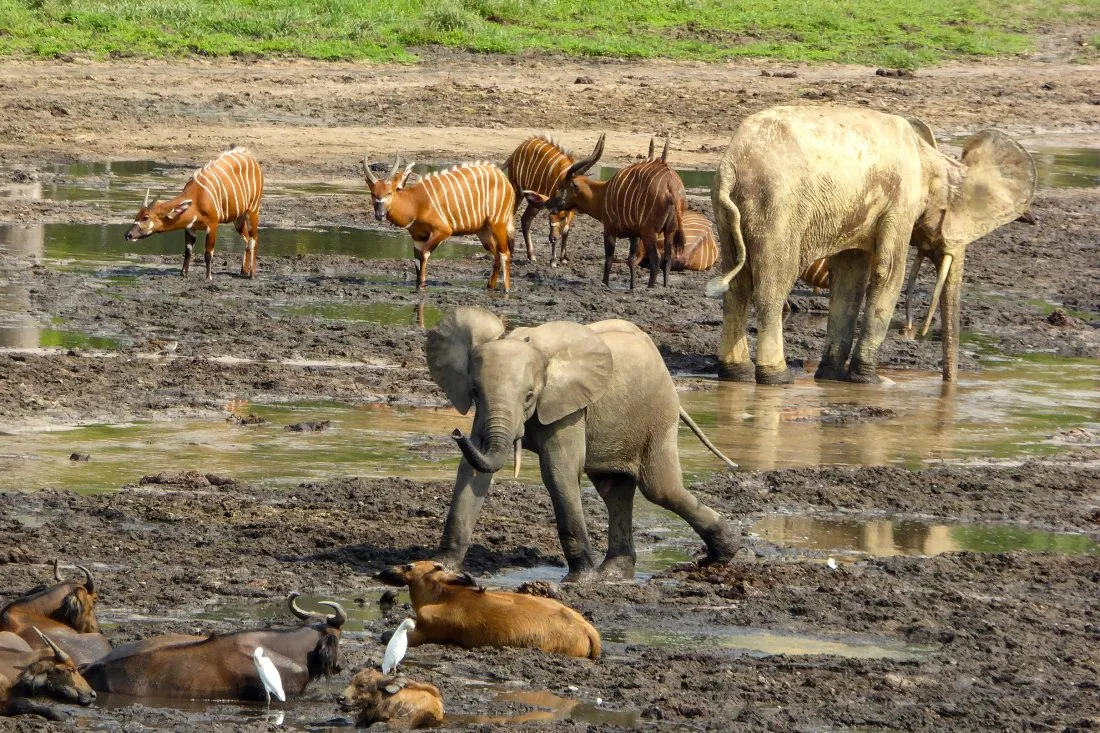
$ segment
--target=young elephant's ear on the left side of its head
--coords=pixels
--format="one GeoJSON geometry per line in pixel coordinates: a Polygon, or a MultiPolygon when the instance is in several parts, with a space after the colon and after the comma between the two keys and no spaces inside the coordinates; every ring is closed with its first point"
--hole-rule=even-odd
{"type": "Polygon", "coordinates": [[[455,308],[428,331],[425,352],[428,373],[447,394],[454,408],[465,415],[473,404],[470,380],[470,352],[475,347],[501,338],[504,324],[483,308],[455,308]]]}

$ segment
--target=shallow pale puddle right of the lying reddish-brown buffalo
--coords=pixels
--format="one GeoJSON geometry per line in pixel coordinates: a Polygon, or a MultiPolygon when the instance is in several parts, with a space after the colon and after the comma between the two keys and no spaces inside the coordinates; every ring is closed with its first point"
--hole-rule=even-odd
{"type": "Polygon", "coordinates": [[[776,632],[749,626],[713,626],[706,631],[682,634],[628,628],[603,633],[606,642],[637,644],[660,648],[681,648],[705,644],[745,652],[754,656],[831,655],[851,659],[916,659],[934,647],[913,646],[888,638],[829,638],[811,634],[776,632]]]}

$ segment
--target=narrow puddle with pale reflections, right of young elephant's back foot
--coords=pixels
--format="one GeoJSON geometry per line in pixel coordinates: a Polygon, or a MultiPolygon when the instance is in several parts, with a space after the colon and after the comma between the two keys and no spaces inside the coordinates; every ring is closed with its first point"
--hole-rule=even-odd
{"type": "Polygon", "coordinates": [[[1100,544],[1085,535],[1013,526],[769,516],[754,524],[750,532],[783,547],[875,557],[933,556],[960,550],[1100,556],[1100,544]]]}

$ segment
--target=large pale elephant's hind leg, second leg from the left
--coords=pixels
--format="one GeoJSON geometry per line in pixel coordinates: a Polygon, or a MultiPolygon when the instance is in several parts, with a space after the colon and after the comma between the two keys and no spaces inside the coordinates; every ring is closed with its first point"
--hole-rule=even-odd
{"type": "Polygon", "coordinates": [[[798,265],[772,253],[774,259],[758,258],[752,267],[752,304],[757,314],[757,365],[759,384],[788,384],[794,381],[783,354],[783,305],[798,280],[798,265]]]}

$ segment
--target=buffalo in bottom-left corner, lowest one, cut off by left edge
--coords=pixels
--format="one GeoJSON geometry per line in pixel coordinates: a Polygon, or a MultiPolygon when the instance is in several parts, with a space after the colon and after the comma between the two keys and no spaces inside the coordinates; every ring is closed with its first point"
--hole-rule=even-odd
{"type": "MultiPolygon", "coordinates": [[[[33,713],[51,720],[63,715],[29,698],[48,697],[62,702],[90,705],[96,691],[77,671],[73,658],[37,632],[44,648],[0,648],[0,715],[33,713]]],[[[14,639],[9,639],[15,646],[14,639]]]]}

